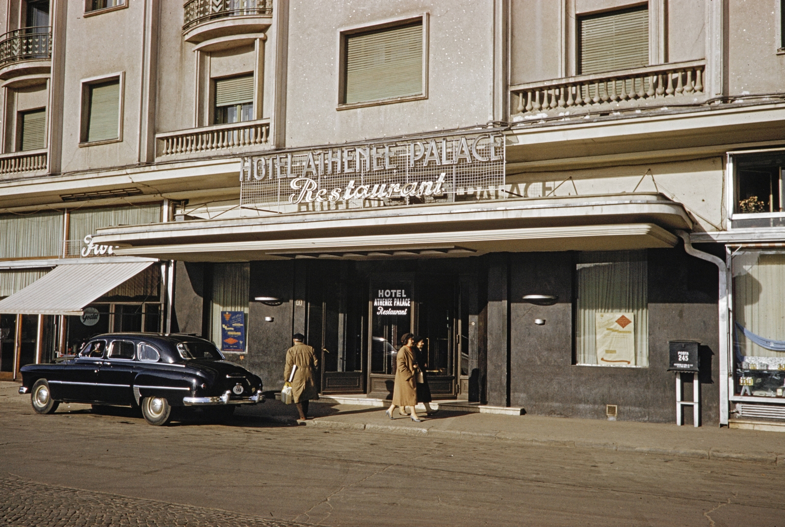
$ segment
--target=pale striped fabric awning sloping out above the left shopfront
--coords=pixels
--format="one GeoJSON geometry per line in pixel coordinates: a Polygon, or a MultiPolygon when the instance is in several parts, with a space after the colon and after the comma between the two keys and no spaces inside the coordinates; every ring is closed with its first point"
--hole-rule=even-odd
{"type": "Polygon", "coordinates": [[[82,309],[154,262],[58,265],[23,290],[0,300],[0,313],[81,315],[82,309]]]}

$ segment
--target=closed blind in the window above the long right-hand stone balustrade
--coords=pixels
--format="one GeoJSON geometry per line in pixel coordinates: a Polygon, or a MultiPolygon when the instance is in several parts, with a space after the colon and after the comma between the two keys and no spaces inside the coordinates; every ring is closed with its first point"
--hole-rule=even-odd
{"type": "Polygon", "coordinates": [[[579,18],[579,73],[648,66],[648,6],[579,18]]]}

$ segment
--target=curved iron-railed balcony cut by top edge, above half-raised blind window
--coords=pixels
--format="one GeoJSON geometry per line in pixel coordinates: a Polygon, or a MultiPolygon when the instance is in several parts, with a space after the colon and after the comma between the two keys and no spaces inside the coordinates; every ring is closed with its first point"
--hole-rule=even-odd
{"type": "Polygon", "coordinates": [[[188,42],[261,33],[272,24],[272,0],[188,0],[183,9],[188,42]]]}

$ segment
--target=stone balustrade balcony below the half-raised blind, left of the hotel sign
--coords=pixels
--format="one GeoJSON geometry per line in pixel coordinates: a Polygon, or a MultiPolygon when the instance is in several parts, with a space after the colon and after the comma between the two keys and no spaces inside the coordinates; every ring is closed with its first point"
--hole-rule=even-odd
{"type": "Polygon", "coordinates": [[[156,134],[158,160],[193,159],[269,148],[270,120],[245,121],[156,134]]]}

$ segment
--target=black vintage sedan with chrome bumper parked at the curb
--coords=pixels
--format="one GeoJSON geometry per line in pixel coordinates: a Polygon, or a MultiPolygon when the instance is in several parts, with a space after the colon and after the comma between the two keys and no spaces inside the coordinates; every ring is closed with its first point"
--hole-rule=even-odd
{"type": "Polygon", "coordinates": [[[141,407],[152,425],[169,423],[173,407],[203,407],[211,420],[228,418],[238,404],[265,401],[261,379],[228,362],[214,344],[190,335],[109,333],[86,342],[57,364],[22,368],[19,393],[35,412],[60,402],[141,407]]]}

